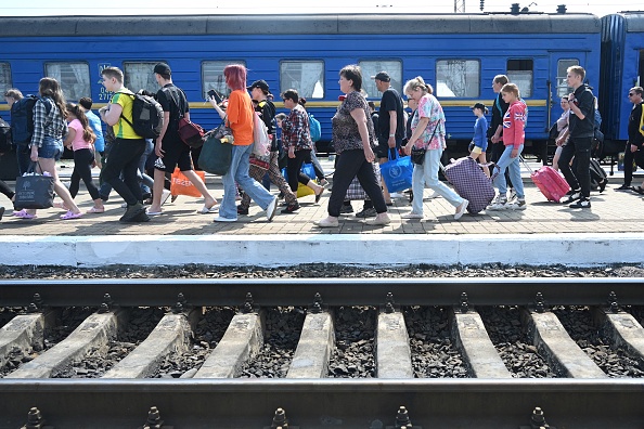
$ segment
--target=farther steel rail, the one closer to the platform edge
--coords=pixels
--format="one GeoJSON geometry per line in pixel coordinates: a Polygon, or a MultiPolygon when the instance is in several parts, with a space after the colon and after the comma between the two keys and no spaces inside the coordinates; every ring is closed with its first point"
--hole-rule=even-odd
{"type": "Polygon", "coordinates": [[[330,306],[378,306],[391,292],[404,306],[527,306],[541,292],[546,304],[598,306],[614,291],[619,304],[644,304],[642,278],[261,278],[261,280],[26,280],[0,282],[0,307],[22,307],[39,294],[44,306],[172,306],[181,292],[194,306],[308,306],[315,292],[330,306]]]}

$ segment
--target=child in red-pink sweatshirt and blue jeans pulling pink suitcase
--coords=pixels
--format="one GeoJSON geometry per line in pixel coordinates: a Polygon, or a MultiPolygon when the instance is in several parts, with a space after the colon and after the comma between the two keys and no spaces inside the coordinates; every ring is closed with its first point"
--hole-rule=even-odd
{"type": "Polygon", "coordinates": [[[488,207],[488,210],[525,210],[526,194],[521,181],[520,154],[524,151],[526,139],[526,105],[519,100],[518,87],[514,83],[505,83],[501,89],[501,96],[510,107],[503,115],[503,145],[505,150],[494,167],[493,183],[499,188],[497,203],[488,207]],[[507,183],[505,182],[505,170],[510,172],[510,180],[516,191],[516,199],[507,200],[507,183]]]}

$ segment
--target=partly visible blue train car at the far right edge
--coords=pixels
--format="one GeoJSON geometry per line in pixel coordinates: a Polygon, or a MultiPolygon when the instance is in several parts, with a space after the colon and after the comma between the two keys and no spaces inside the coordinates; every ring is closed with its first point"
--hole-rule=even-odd
{"type": "Polygon", "coordinates": [[[644,84],[644,12],[621,12],[602,18],[600,110],[604,118],[604,154],[623,152],[633,104],[627,96],[644,84]]]}

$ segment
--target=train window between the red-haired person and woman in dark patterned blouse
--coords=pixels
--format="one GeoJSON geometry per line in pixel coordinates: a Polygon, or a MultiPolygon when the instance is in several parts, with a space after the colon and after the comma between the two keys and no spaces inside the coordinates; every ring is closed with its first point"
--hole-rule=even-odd
{"type": "Polygon", "coordinates": [[[324,98],[323,61],[282,61],[280,63],[280,92],[295,89],[306,99],[324,98]]]}

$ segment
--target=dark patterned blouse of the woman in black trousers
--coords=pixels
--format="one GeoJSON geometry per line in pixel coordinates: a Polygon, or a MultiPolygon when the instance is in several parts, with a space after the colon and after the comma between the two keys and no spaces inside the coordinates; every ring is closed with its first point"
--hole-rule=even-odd
{"type": "Polygon", "coordinates": [[[333,147],[336,154],[342,154],[344,151],[362,150],[362,138],[358,130],[358,123],[351,116],[351,112],[356,108],[362,108],[366,117],[366,131],[369,132],[369,142],[371,147],[375,147],[375,132],[373,128],[373,120],[369,112],[369,105],[364,96],[358,92],[349,92],[347,98],[337,107],[337,112],[331,118],[331,126],[333,129],[333,147]]]}

